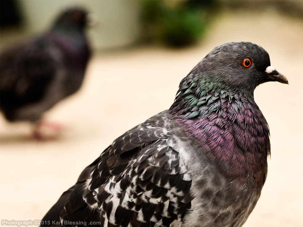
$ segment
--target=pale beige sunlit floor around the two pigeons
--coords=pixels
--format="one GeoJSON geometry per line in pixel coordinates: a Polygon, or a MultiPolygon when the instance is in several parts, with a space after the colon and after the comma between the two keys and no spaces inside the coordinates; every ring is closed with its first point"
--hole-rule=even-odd
{"type": "Polygon", "coordinates": [[[0,219],[41,219],[112,140],[167,109],[181,78],[213,47],[252,41],[269,52],[289,85],[271,82],[255,91],[271,129],[272,155],[261,198],[245,227],[302,226],[302,37],[302,21],[273,12],[234,14],[222,15],[195,47],[96,54],[82,89],[46,114],[68,127],[57,141],[30,141],[28,124],[0,119],[0,219]]]}

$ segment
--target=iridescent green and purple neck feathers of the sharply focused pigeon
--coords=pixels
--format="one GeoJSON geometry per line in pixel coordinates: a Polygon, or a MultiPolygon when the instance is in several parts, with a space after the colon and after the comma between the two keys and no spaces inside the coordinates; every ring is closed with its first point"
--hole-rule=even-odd
{"type": "Polygon", "coordinates": [[[170,119],[226,176],[263,179],[270,154],[269,129],[253,94],[188,89],[180,87],[169,109],[170,119]]]}

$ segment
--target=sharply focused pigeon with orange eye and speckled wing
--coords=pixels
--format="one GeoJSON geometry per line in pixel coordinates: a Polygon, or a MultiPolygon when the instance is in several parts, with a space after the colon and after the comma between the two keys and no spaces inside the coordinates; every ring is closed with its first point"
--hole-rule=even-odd
{"type": "Polygon", "coordinates": [[[41,226],[243,225],[267,175],[269,129],[253,93],[268,81],[288,84],[257,44],[214,48],[171,107],[115,139],[41,226]]]}

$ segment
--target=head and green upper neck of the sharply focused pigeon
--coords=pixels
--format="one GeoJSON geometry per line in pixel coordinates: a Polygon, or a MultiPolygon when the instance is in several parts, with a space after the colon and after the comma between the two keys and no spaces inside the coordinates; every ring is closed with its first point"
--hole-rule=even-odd
{"type": "Polygon", "coordinates": [[[254,103],[255,88],[268,81],[288,84],[270,65],[263,48],[250,42],[226,43],[208,53],[181,81],[170,112],[192,119],[216,113],[225,100],[254,103]]]}

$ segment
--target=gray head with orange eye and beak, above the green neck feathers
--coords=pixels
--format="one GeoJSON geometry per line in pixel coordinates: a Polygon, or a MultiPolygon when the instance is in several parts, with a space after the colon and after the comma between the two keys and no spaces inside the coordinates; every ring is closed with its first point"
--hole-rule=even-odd
{"type": "Polygon", "coordinates": [[[188,74],[188,77],[197,76],[207,84],[232,90],[253,91],[268,81],[288,84],[286,77],[270,65],[268,53],[250,42],[231,42],[216,47],[188,74]]]}

